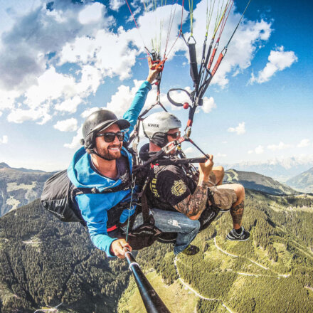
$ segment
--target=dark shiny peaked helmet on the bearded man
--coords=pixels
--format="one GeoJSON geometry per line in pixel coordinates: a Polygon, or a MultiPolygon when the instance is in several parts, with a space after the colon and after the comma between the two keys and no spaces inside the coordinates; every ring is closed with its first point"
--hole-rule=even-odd
{"type": "Polygon", "coordinates": [[[91,113],[83,124],[84,138],[80,139],[80,143],[85,149],[92,149],[95,147],[95,134],[115,123],[121,130],[130,126],[127,120],[118,120],[117,116],[109,110],[101,109],[91,113]]]}

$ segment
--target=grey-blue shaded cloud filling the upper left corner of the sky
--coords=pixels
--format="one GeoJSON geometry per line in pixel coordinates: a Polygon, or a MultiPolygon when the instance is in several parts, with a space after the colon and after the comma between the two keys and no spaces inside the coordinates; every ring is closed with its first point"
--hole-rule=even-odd
{"type": "MultiPolygon", "coordinates": [[[[99,5],[104,10],[102,4],[91,6],[99,5]]],[[[59,0],[54,1],[53,9],[48,10],[43,1],[33,11],[16,18],[11,30],[2,36],[0,85],[6,90],[26,90],[45,72],[49,53],[58,53],[65,43],[78,36],[90,36],[95,28],[112,23],[112,18],[104,16],[97,25],[80,23],[78,16],[91,6],[59,0]]]]}

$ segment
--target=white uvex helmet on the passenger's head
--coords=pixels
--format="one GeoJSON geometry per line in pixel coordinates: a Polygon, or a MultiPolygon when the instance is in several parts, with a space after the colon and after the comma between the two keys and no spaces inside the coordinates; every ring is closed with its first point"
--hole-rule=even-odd
{"type": "Polygon", "coordinates": [[[142,127],[151,142],[163,147],[168,142],[166,133],[169,129],[181,128],[181,121],[169,112],[157,112],[146,117],[142,127]]]}

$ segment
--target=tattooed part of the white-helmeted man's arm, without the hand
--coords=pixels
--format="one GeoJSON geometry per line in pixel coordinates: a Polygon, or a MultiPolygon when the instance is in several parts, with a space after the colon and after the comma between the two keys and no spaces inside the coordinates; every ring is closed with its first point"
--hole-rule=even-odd
{"type": "Polygon", "coordinates": [[[188,196],[183,201],[174,206],[177,211],[184,213],[191,218],[201,214],[206,208],[206,201],[208,199],[208,182],[200,181],[196,190],[191,196],[188,196]]]}

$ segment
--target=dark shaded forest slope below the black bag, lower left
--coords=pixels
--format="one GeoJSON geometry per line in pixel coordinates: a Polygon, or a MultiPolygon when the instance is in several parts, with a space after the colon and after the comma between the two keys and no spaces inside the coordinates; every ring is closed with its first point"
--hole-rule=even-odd
{"type": "Polygon", "coordinates": [[[124,260],[107,260],[80,223],[62,223],[33,201],[0,218],[0,312],[115,312],[124,260]],[[63,309],[68,311],[63,311],[63,309]]]}

